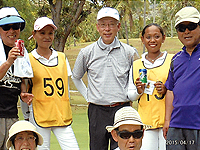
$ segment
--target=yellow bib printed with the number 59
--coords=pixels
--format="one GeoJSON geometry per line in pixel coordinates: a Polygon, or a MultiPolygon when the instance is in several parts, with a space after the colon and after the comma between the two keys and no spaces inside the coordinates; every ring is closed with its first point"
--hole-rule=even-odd
{"type": "Polygon", "coordinates": [[[66,58],[64,53],[57,53],[56,66],[46,66],[29,53],[34,74],[33,114],[36,123],[41,127],[67,126],[72,123],[66,58]]]}

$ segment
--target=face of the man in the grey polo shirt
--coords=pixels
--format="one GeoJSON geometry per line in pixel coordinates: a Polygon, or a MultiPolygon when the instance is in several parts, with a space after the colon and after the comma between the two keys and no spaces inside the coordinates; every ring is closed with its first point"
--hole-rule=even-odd
{"type": "Polygon", "coordinates": [[[111,44],[120,29],[120,23],[114,18],[104,17],[98,20],[96,27],[103,42],[111,44]]]}

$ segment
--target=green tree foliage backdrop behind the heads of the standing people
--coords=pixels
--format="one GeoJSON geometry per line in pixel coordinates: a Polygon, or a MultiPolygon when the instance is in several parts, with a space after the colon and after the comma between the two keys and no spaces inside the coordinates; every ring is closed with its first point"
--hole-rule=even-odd
{"type": "Polygon", "coordinates": [[[144,0],[0,0],[0,6],[14,6],[26,20],[26,28],[20,38],[25,40],[29,51],[35,47],[35,42],[28,41],[27,38],[31,35],[34,21],[41,16],[54,20],[58,30],[53,45],[55,49],[63,51],[71,43],[75,45],[77,42],[96,41],[99,38],[96,15],[104,6],[114,7],[120,13],[120,39],[140,37],[144,27],[144,14],[146,24],[152,23],[155,18],[155,23],[163,27],[168,37],[176,36],[175,13],[184,6],[194,6],[200,10],[199,0],[146,0],[146,12],[144,0]]]}

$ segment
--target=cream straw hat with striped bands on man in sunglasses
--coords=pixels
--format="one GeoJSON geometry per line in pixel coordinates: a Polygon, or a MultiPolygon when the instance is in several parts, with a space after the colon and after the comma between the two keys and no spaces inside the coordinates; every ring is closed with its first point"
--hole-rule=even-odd
{"type": "Polygon", "coordinates": [[[125,106],[119,109],[115,113],[113,126],[106,126],[108,132],[118,128],[121,125],[131,124],[131,125],[144,125],[141,121],[138,112],[131,106],[125,106]]]}

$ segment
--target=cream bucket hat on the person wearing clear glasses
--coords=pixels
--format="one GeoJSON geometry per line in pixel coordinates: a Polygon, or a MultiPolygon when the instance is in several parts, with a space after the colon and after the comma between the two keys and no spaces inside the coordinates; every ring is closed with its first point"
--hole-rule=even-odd
{"type": "Polygon", "coordinates": [[[6,147],[9,149],[12,146],[12,141],[11,138],[16,135],[19,132],[23,132],[23,131],[32,131],[34,133],[37,134],[38,136],[38,145],[42,145],[43,144],[43,138],[42,136],[36,131],[36,127],[30,123],[29,121],[25,121],[25,120],[20,120],[15,122],[10,130],[9,130],[9,137],[8,140],[6,142],[6,147]]]}

